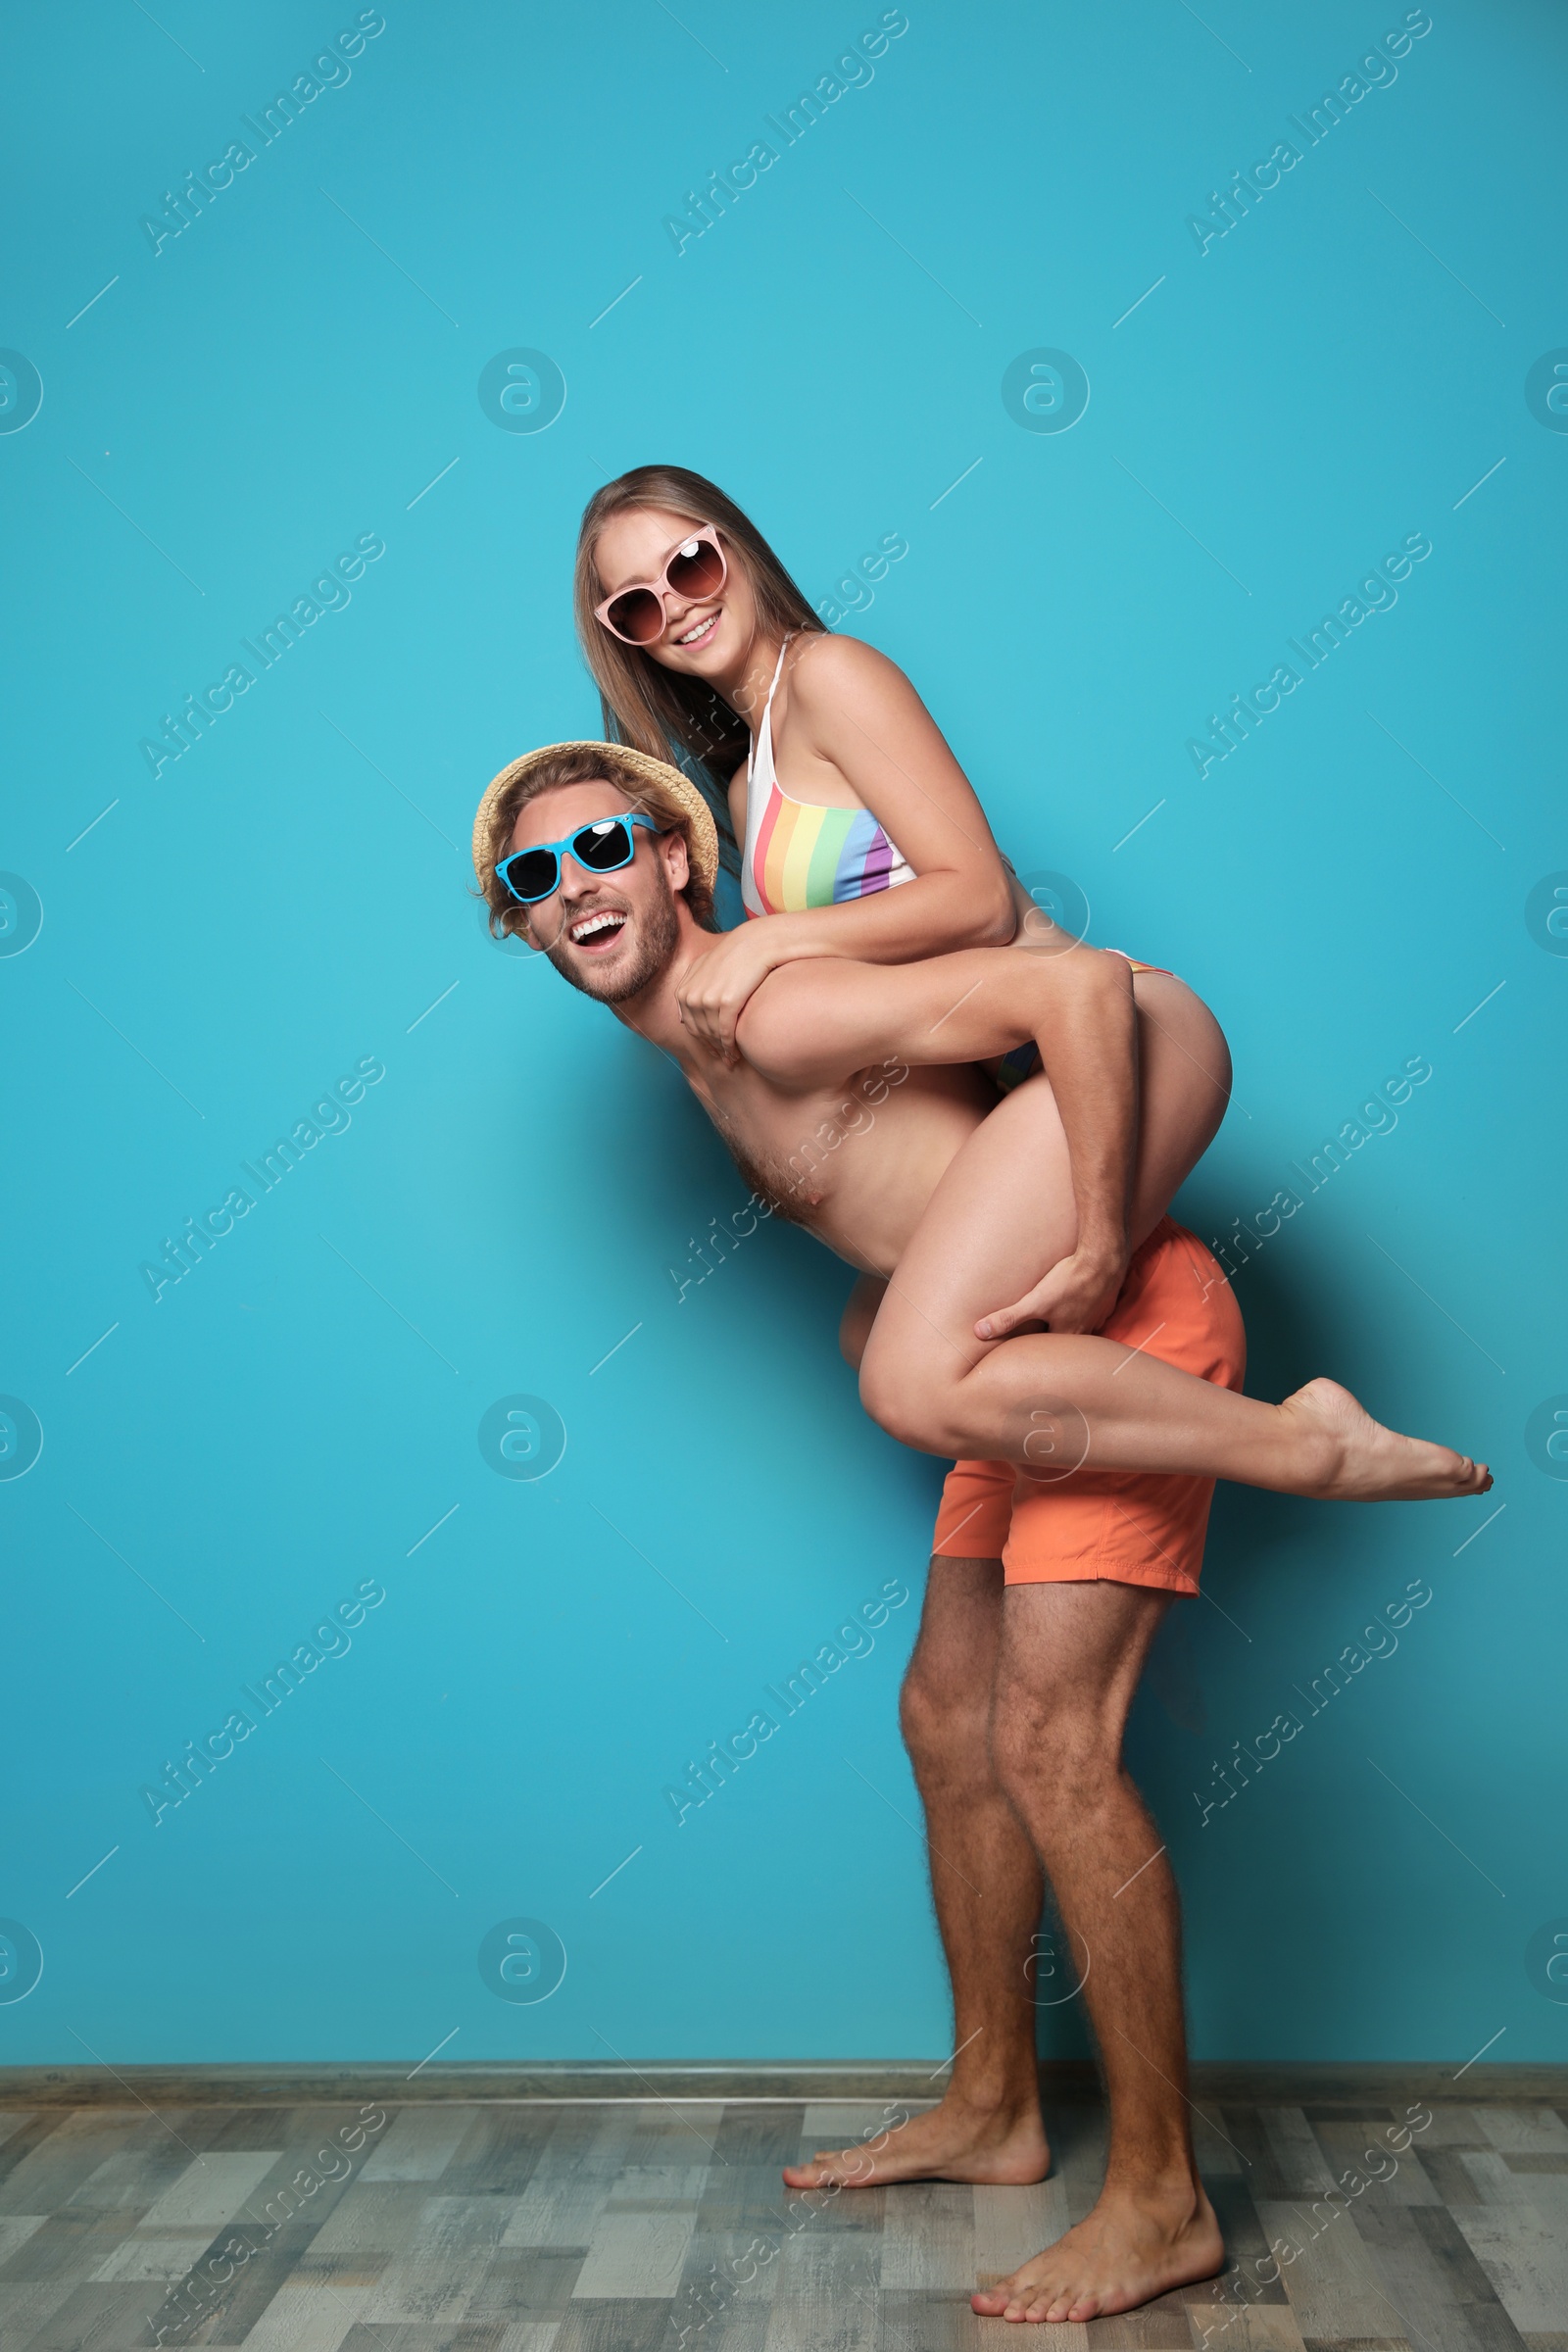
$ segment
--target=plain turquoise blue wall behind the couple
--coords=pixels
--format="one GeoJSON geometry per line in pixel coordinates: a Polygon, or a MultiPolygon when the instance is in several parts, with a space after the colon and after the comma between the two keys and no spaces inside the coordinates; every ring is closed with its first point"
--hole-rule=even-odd
{"type": "Polygon", "coordinates": [[[1568,1931],[1568,1486],[1526,1444],[1568,1392],[1568,957],[1526,922],[1568,868],[1568,419],[1526,402],[1568,346],[1561,9],[1434,0],[1307,148],[1288,118],[1401,7],[912,0],[677,254],[684,191],[879,14],[388,0],[158,254],[141,216],[355,9],[16,16],[0,341],[42,407],[0,435],[0,866],[42,931],[0,957],[0,1390],[42,1456],[0,1482],[0,1915],[45,1971],[5,2063],[947,2049],[896,1731],[940,1470],[860,1416],[804,1235],[677,1296],[743,1185],[675,1073],[465,896],[491,771],[597,731],[574,524],[646,459],[724,482],[813,597],[907,539],[851,626],[1018,866],[1232,1037],[1187,1214],[1302,1192],[1239,1275],[1253,1385],[1333,1371],[1495,1463],[1443,1510],[1222,1494],[1133,1731],[1197,2051],[1563,2053],[1528,1945],[1568,1931]],[[1187,216],[1281,139],[1300,162],[1199,249],[1187,216]],[[515,348],[564,374],[548,430],[480,407],[515,348]],[[1088,374],[1067,433],[1004,407],[1037,348],[1088,374]],[[1406,534],[1396,607],[1199,779],[1187,739],[1406,534]],[[353,602],[153,776],[160,713],[362,536],[353,602]],[[1307,1192],[1291,1164],[1415,1056],[1396,1129],[1307,1192]],[[364,1061],[353,1124],[249,1183],[364,1061]],[[155,1303],[143,1261],[235,1185],[155,1303]],[[545,1479],[480,1451],[512,1395],[564,1421],[545,1479]],[[665,1783],[889,1581],[870,1653],[677,1828],[665,1783]],[[1396,1653],[1305,1715],[1413,1581],[1396,1653]],[[348,1653],[155,1825],[143,1783],[364,1583],[348,1653]],[[480,1976],[512,1919],[564,1945],[545,2002],[480,1976]]]}

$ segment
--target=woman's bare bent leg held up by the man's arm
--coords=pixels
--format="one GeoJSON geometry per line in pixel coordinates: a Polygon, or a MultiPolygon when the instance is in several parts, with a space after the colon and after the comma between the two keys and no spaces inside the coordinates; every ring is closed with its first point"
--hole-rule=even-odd
{"type": "MultiPolygon", "coordinates": [[[[1192,993],[1140,974],[1138,1007],[1133,1242],[1159,1223],[1222,1108],[1213,1063],[1206,1070],[1192,1051],[1192,1040],[1201,1051],[1208,1021],[1192,993]],[[1145,995],[1157,1000],[1157,1018],[1143,1018],[1154,1011],[1145,995]]],[[[1056,1463],[1067,1439],[1098,1470],[1227,1477],[1281,1494],[1427,1501],[1490,1486],[1483,1465],[1380,1428],[1333,1381],[1262,1404],[1117,1341],[976,1338],[976,1322],[1018,1298],[1074,1237],[1067,1141],[1051,1087],[1032,1077],[957,1155],[891,1277],[860,1367],[872,1418],[926,1454],[1025,1468],[1039,1461],[1039,1432],[1048,1430],[1056,1463]]]]}

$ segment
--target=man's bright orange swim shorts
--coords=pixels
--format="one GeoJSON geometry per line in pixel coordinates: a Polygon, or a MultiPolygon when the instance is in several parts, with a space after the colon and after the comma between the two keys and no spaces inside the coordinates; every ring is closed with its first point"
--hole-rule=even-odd
{"type": "MultiPolygon", "coordinates": [[[[1168,1216],[1135,1251],[1100,1334],[1220,1388],[1241,1388],[1246,1374],[1234,1291],[1204,1244],[1168,1216]]],[[[1009,1585],[1110,1581],[1192,1595],[1211,1501],[1211,1477],[1086,1468],[1037,1482],[1013,1463],[954,1463],[931,1550],[1001,1559],[1009,1585]]]]}

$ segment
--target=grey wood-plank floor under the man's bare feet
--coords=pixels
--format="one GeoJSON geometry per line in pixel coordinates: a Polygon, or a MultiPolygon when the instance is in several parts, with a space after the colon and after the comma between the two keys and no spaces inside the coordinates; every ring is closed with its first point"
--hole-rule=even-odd
{"type": "MultiPolygon", "coordinates": [[[[879,2105],[456,2103],[0,2112],[0,2352],[938,2352],[969,2291],[1093,2201],[1103,2114],[1048,2107],[1034,2190],[790,2206],[778,2166],[879,2105]],[[376,2122],[383,2117],[383,2122],[376,2122]],[[364,2126],[360,2126],[364,2129],[364,2126]],[[324,2171],[339,2180],[322,2180],[324,2171]],[[294,2194],[320,2185],[289,2213],[294,2194]],[[268,2220],[268,2209],[273,2220],[268,2220]],[[686,2331],[686,2333],[682,2333],[686,2331]]],[[[1248,2298],[1058,2326],[1063,2352],[1568,2352],[1568,2124],[1432,2100],[1211,2107],[1199,2159],[1248,2298]],[[1387,2171],[1389,2159],[1378,2161],[1387,2171]],[[1340,2204],[1314,2194],[1349,2180],[1340,2204]],[[1354,2183],[1366,2183],[1354,2187],[1354,2183]],[[1293,2258],[1272,2277],[1269,2241],[1293,2258]]],[[[1006,2340],[1013,2340],[1011,2336],[1006,2340]]],[[[1020,2338],[1034,2340],[1034,2338],[1020,2338]]]]}

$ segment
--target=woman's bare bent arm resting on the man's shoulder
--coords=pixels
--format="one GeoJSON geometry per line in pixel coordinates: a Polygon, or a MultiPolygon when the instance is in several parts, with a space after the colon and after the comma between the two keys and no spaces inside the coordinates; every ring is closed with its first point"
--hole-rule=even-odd
{"type": "MultiPolygon", "coordinates": [[[[726,931],[691,967],[682,1018],[731,1061],[741,1009],[778,964],[820,955],[907,964],[1001,946],[1016,924],[985,811],[903,670],[853,637],[809,635],[790,647],[785,682],[792,797],[844,807],[849,786],[910,861],[914,880],[726,931]]],[[[731,809],[741,833],[743,779],[731,786],[731,809]]]]}

